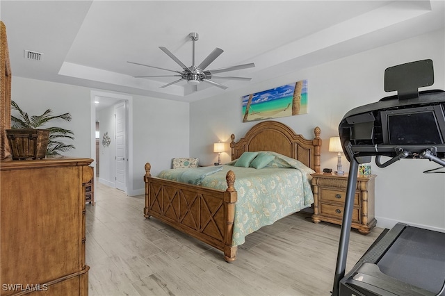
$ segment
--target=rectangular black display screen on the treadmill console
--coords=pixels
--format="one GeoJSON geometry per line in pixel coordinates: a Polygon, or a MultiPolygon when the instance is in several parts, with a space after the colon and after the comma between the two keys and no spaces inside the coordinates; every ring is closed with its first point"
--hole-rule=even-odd
{"type": "Polygon", "coordinates": [[[388,113],[389,145],[442,144],[442,135],[434,110],[413,113],[388,113]]]}

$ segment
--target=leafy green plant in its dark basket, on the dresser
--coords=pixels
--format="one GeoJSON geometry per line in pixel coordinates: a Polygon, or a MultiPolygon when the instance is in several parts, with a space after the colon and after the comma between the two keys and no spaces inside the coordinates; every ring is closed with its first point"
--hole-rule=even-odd
{"type": "MultiPolygon", "coordinates": [[[[43,126],[52,120],[65,120],[67,122],[71,121],[72,116],[70,113],[63,113],[60,115],[52,115],[53,111],[51,109],[47,109],[42,113],[42,115],[28,115],[28,113],[24,112],[22,108],[15,101],[11,101],[11,107],[13,110],[17,110],[19,112],[19,117],[11,115],[11,127],[12,130],[37,130],[42,133],[42,140],[45,140],[45,135],[43,134],[43,126]],[[40,129],[39,129],[40,128],[40,129]]],[[[74,140],[74,133],[68,129],[62,129],[57,126],[47,127],[45,130],[49,131],[47,135],[47,147],[45,151],[46,156],[60,156],[61,152],[69,151],[70,149],[74,149],[73,145],[67,145],[60,140],[63,138],[69,138],[74,140]]],[[[8,136],[9,137],[9,136],[8,136]]],[[[29,136],[31,138],[31,135],[29,136]]],[[[8,138],[9,140],[9,138],[8,138]]],[[[11,147],[13,149],[13,147],[11,147]]],[[[14,156],[13,156],[14,158],[14,156]]],[[[36,158],[36,157],[33,157],[36,158]]],[[[41,158],[41,157],[37,157],[41,158]]]]}

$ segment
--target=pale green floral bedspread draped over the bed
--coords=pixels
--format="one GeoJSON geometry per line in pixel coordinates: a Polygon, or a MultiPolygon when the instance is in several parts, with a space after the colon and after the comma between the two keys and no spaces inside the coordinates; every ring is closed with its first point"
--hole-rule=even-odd
{"type": "Polygon", "coordinates": [[[293,158],[267,153],[275,155],[275,160],[261,170],[236,167],[233,161],[202,179],[204,187],[226,190],[227,172],[233,170],[235,173],[238,201],[235,205],[232,246],[242,245],[249,233],[314,203],[310,184],[310,174],[314,170],[293,158]]]}

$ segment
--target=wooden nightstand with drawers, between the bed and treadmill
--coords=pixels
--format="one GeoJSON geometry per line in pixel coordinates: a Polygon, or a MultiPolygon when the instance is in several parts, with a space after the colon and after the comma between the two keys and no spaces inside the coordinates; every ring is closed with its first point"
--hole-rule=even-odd
{"type": "MultiPolygon", "coordinates": [[[[374,218],[374,180],[376,175],[357,176],[351,227],[368,234],[377,220],[374,218]]],[[[312,222],[321,221],[341,225],[348,186],[348,174],[312,174],[314,215],[312,222]]]]}

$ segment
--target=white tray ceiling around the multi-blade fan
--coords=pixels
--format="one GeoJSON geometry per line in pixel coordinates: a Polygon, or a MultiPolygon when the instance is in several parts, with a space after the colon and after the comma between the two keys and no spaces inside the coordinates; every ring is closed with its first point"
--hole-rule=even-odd
{"type": "MultiPolygon", "coordinates": [[[[312,67],[445,26],[441,1],[8,1],[0,4],[13,76],[82,85],[129,94],[197,101],[312,67]],[[199,64],[219,47],[225,52],[207,67],[244,63],[256,67],[221,75],[222,90],[184,81],[160,88],[181,70],[160,46],[192,65],[189,33],[198,33],[199,64]],[[27,60],[24,51],[42,53],[27,60]]],[[[407,49],[409,50],[409,49],[407,49]]]]}

